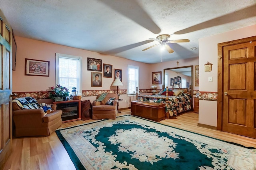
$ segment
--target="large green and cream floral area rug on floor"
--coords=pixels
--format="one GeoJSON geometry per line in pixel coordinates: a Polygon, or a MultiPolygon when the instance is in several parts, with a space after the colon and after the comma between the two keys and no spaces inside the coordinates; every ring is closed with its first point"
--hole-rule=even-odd
{"type": "Polygon", "coordinates": [[[77,170],[256,170],[256,149],[135,116],[56,130],[77,170]]]}

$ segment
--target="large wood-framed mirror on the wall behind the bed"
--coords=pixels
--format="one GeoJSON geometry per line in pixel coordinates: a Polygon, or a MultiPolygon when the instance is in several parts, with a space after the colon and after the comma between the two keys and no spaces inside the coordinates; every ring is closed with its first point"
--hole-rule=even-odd
{"type": "MultiPolygon", "coordinates": [[[[173,88],[177,84],[180,88],[188,88],[191,85],[190,95],[193,106],[193,66],[183,66],[174,68],[164,68],[164,86],[173,88]]],[[[193,107],[192,107],[193,108],[193,107]]]]}

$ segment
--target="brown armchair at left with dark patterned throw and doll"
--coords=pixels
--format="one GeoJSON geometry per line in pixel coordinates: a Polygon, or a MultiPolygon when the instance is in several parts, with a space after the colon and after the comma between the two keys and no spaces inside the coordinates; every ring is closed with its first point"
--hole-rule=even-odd
{"type": "MultiPolygon", "coordinates": [[[[52,104],[51,99],[41,99],[37,102],[38,104],[52,104]]],[[[54,111],[45,115],[42,109],[24,109],[13,100],[12,117],[15,126],[15,136],[49,136],[52,134],[62,124],[62,110],[56,110],[55,104],[52,104],[51,108],[54,111]]]]}

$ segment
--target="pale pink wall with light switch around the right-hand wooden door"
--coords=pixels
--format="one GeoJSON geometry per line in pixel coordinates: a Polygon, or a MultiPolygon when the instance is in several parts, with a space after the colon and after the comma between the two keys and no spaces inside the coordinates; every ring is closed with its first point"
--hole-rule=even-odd
{"type": "MultiPolygon", "coordinates": [[[[199,90],[217,92],[218,89],[218,43],[238,40],[256,36],[256,25],[247,26],[237,30],[224,32],[199,39],[199,90]],[[212,63],[212,71],[204,72],[204,64],[212,63]],[[208,77],[212,76],[212,82],[208,77]]],[[[218,96],[222,97],[222,96],[218,96]]],[[[217,102],[199,100],[199,121],[200,124],[217,126],[217,102]],[[207,106],[207,107],[206,107],[207,106]]]]}

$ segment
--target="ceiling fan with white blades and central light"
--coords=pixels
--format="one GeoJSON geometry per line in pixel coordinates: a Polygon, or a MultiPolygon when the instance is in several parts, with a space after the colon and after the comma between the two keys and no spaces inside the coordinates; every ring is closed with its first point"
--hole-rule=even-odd
{"type": "Polygon", "coordinates": [[[169,53],[173,53],[174,50],[172,50],[172,48],[170,48],[170,46],[168,45],[168,43],[177,43],[177,42],[189,42],[188,39],[181,39],[181,40],[168,40],[168,38],[170,38],[170,35],[169,34],[162,34],[162,35],[159,35],[157,36],[156,38],[149,38],[151,40],[155,40],[155,41],[158,41],[160,42],[159,44],[155,44],[153,46],[150,46],[148,48],[145,48],[143,49],[142,51],[145,51],[145,50],[148,50],[154,46],[158,46],[158,45],[162,45],[166,48],[166,50],[169,52],[169,53]]]}

